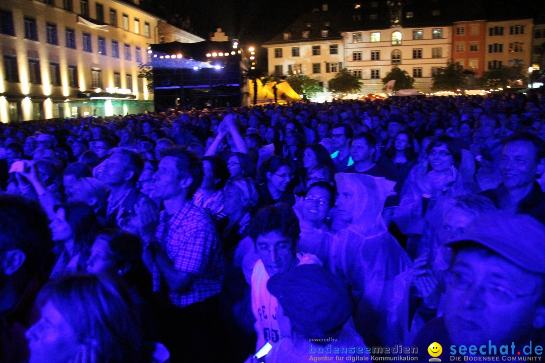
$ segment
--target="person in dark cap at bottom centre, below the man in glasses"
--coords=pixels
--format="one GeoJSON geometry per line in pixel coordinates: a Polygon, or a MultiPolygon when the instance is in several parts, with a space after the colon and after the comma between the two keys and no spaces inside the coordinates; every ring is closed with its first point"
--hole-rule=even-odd
{"type": "Polygon", "coordinates": [[[348,291],[322,266],[304,264],[278,273],[271,276],[267,288],[278,299],[278,325],[286,337],[273,344],[265,362],[307,362],[320,352],[332,358],[340,347],[354,347],[352,353],[338,354],[343,360],[366,355],[350,318],[353,304],[348,291]]]}

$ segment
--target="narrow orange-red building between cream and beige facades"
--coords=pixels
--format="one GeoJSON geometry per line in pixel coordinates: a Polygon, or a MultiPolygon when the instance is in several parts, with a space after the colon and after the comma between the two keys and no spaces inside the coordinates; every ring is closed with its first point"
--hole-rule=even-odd
{"type": "Polygon", "coordinates": [[[486,20],[457,21],[452,26],[452,61],[478,76],[485,71],[486,20]]]}

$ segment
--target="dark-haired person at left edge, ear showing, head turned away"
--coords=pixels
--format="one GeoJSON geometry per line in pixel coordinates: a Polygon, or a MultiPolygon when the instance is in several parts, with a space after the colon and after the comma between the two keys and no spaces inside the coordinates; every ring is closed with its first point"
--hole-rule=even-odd
{"type": "Polygon", "coordinates": [[[49,218],[40,204],[0,195],[0,361],[28,359],[25,330],[35,322],[32,306],[51,263],[49,218]]]}

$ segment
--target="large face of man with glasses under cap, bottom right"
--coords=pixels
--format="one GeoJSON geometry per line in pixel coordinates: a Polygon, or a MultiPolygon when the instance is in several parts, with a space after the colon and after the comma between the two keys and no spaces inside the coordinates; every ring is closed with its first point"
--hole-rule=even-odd
{"type": "Polygon", "coordinates": [[[459,251],[446,281],[445,324],[453,344],[510,344],[545,325],[541,276],[486,249],[459,251]]]}

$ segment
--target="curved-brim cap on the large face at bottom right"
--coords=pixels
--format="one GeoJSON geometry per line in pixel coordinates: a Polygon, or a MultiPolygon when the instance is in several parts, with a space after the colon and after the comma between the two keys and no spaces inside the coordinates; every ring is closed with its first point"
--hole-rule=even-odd
{"type": "Polygon", "coordinates": [[[472,241],[530,272],[545,274],[545,225],[528,214],[494,211],[471,222],[465,235],[445,245],[472,241]]]}

